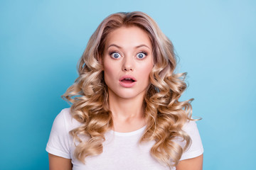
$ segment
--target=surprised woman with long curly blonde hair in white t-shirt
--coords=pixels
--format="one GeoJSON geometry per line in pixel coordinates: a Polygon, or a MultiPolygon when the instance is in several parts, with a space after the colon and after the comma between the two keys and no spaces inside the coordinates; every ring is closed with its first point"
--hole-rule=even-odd
{"type": "Polygon", "coordinates": [[[142,12],[114,13],[92,34],[63,94],[46,150],[50,169],[202,169],[190,101],[178,101],[171,41],[142,12]]]}

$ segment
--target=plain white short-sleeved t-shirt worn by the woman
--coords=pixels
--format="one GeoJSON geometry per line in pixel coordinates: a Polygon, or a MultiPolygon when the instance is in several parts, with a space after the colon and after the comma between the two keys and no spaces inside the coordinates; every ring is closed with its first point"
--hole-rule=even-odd
{"type": "MultiPolygon", "coordinates": [[[[113,130],[106,132],[106,140],[102,144],[102,154],[86,157],[85,164],[82,164],[73,155],[75,145],[73,137],[69,135],[70,130],[80,125],[70,115],[70,108],[64,108],[54,120],[46,146],[48,153],[71,159],[73,170],[168,169],[168,167],[161,165],[156,159],[151,157],[149,151],[154,145],[154,141],[139,144],[139,139],[142,137],[146,126],[133,132],[114,132],[113,130]]],[[[186,123],[183,126],[183,130],[190,135],[192,145],[182,154],[180,160],[198,157],[203,154],[203,145],[196,123],[193,121],[186,123]]]]}

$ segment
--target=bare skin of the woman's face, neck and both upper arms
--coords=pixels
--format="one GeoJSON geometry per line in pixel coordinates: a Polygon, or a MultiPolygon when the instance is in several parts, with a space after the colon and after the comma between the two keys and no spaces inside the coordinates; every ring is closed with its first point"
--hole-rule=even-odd
{"type": "MultiPolygon", "coordinates": [[[[154,66],[149,36],[136,26],[122,27],[107,35],[102,59],[105,82],[108,87],[110,110],[116,132],[132,132],[146,125],[143,101],[149,84],[149,73],[154,66]],[[142,58],[139,58],[142,57],[142,58]],[[115,58],[117,57],[117,58],[115,58]],[[134,77],[132,87],[124,87],[119,79],[124,75],[134,77]]],[[[71,170],[70,159],[49,155],[50,170],[71,170]]],[[[203,154],[178,163],[177,170],[203,169],[203,154]]]]}

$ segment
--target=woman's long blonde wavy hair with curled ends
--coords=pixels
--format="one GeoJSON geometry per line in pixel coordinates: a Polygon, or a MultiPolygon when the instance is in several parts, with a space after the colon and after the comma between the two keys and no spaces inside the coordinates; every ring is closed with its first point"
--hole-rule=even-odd
{"type": "Polygon", "coordinates": [[[148,35],[153,46],[154,67],[149,76],[149,86],[144,96],[144,118],[146,130],[139,142],[154,140],[151,156],[171,168],[176,166],[181,154],[191,144],[191,138],[182,130],[191,118],[191,98],[178,101],[187,85],[186,73],[175,74],[176,55],[169,38],[161,32],[156,22],[146,13],[114,13],[100,23],[92,34],[82,57],[78,62],[79,77],[68,88],[62,98],[72,106],[70,112],[80,127],[70,131],[77,143],[75,157],[85,163],[85,157],[102,153],[105,132],[113,126],[112,113],[108,105],[102,57],[107,35],[114,29],[137,26],[148,35]],[[87,140],[82,140],[82,137],[87,140]],[[184,147],[176,139],[186,142],[184,147]]]}

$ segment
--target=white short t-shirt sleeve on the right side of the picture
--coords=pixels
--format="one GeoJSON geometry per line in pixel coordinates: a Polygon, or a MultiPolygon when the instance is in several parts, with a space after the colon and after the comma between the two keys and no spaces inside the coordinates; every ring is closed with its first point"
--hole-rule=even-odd
{"type": "Polygon", "coordinates": [[[191,146],[183,152],[181,160],[191,159],[203,154],[203,145],[195,121],[189,121],[183,126],[183,130],[191,137],[191,146]]]}

